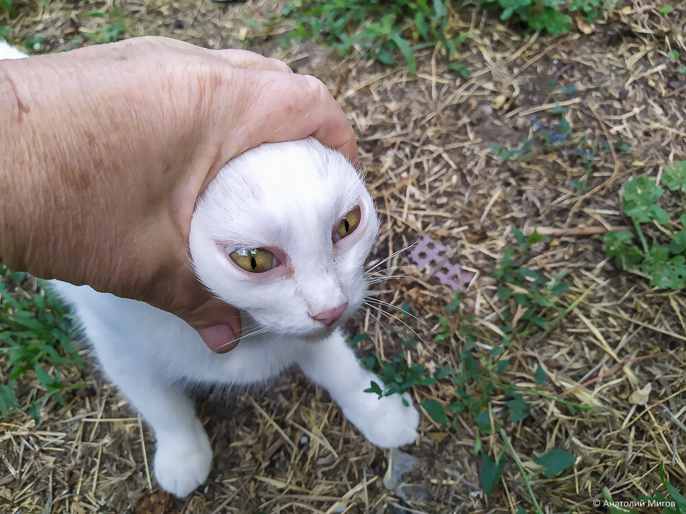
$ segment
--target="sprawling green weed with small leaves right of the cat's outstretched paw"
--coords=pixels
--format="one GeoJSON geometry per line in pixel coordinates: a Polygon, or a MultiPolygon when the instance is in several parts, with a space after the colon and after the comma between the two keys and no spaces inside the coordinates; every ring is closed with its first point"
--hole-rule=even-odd
{"type": "MultiPolygon", "coordinates": [[[[525,481],[535,511],[540,513],[541,508],[530,482],[540,474],[549,478],[562,472],[576,462],[576,457],[564,450],[549,450],[533,459],[534,463],[541,466],[541,471],[530,476],[512,448],[506,428],[530,416],[532,397],[545,397],[558,402],[571,413],[590,407],[560,400],[547,393],[544,389],[545,369],[540,364],[536,365],[533,372],[535,387],[508,383],[504,378],[510,365],[508,348],[515,340],[541,330],[550,330],[584,295],[570,306],[563,307],[559,298],[569,289],[569,284],[563,281],[564,274],[552,279],[546,278],[525,265],[532,247],[545,241],[545,238],[536,233],[527,237],[517,229],[512,232],[519,249],[508,249],[499,269],[494,273],[499,282],[499,297],[508,304],[502,314],[504,326],[501,331],[505,336],[500,341],[493,341],[490,333],[478,325],[473,317],[462,314],[458,292],[453,297],[453,302],[445,307],[445,315],[439,317],[439,328],[434,338],[436,341],[454,341],[455,336],[460,339],[456,352],[457,367],[441,366],[429,371],[423,365],[411,363],[405,350],[416,344],[416,341],[404,337],[403,351],[390,362],[382,362],[374,354],[365,358],[363,364],[377,372],[383,382],[383,385],[379,385],[372,381],[369,389],[366,389],[379,397],[403,393],[413,386],[429,387],[436,384],[442,397],[431,397],[420,402],[420,405],[436,423],[452,426],[454,429],[458,426],[458,416],[473,418],[476,434],[474,452],[480,454],[484,492],[493,492],[501,480],[506,463],[512,461],[525,481]],[[483,441],[491,436],[500,441],[499,451],[489,452],[484,447],[483,441]]],[[[403,312],[407,313],[408,310],[408,306],[403,306],[403,312]]],[[[361,339],[362,336],[356,336],[351,343],[361,339]]]]}

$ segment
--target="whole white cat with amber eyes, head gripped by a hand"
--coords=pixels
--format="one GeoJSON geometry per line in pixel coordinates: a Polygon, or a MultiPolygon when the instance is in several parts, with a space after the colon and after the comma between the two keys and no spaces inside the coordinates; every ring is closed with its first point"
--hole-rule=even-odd
{"type": "Polygon", "coordinates": [[[107,376],[152,426],[164,489],[185,496],[210,470],[188,386],[255,384],[292,365],[327,389],[371,443],[416,439],[410,396],[364,393],[376,377],[340,330],[366,294],[363,265],[377,225],[357,171],[314,139],[263,144],[230,160],[198,199],[189,237],[200,280],[241,309],[244,336],[228,354],[211,352],[184,321],[148,304],[51,282],[107,376]]]}

